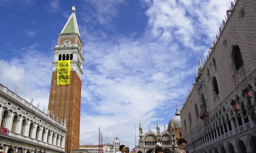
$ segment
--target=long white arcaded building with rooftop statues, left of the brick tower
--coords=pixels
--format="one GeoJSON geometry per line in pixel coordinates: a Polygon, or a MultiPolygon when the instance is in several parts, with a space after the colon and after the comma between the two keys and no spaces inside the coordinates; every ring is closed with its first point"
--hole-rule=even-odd
{"type": "Polygon", "coordinates": [[[53,120],[32,103],[0,84],[0,123],[9,130],[8,135],[0,133],[0,149],[14,153],[21,146],[24,153],[35,149],[65,152],[65,123],[53,120]]]}

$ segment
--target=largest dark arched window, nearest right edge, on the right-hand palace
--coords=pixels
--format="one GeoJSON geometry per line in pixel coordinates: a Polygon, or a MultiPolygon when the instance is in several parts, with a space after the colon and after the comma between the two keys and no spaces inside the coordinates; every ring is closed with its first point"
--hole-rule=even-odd
{"type": "Polygon", "coordinates": [[[240,67],[244,64],[242,54],[240,52],[240,48],[238,45],[234,45],[232,49],[232,57],[233,57],[233,63],[234,63],[234,72],[237,72],[240,67]]]}

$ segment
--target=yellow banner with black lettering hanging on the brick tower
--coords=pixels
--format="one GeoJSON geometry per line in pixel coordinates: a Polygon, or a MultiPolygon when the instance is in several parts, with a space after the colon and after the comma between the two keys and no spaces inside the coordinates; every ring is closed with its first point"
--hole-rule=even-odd
{"type": "Polygon", "coordinates": [[[70,84],[70,62],[71,60],[58,61],[57,85],[70,84]]]}

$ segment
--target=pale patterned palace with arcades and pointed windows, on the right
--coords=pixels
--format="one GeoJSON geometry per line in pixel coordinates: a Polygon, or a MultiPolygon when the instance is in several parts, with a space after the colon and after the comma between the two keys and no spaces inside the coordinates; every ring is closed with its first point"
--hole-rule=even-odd
{"type": "Polygon", "coordinates": [[[236,0],[181,109],[188,152],[256,152],[256,1],[236,0]]]}

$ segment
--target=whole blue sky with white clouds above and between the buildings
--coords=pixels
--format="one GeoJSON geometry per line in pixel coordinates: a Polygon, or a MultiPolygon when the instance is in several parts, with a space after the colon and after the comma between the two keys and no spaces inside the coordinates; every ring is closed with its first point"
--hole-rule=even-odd
{"type": "Polygon", "coordinates": [[[80,144],[97,144],[101,125],[104,142],[134,147],[140,121],[163,131],[183,105],[230,1],[0,0],[0,83],[42,110],[73,5],[85,58],[80,144]]]}

